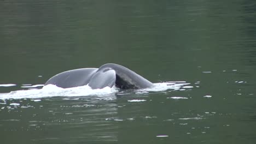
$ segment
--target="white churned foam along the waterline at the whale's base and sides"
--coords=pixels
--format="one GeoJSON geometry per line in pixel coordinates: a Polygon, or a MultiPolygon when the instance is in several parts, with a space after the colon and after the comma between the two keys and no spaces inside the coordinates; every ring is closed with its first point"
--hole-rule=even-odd
{"type": "MultiPolygon", "coordinates": [[[[166,91],[167,89],[179,90],[184,87],[185,85],[189,85],[190,83],[182,82],[162,82],[162,83],[154,83],[154,87],[152,88],[145,88],[145,89],[137,89],[135,94],[148,94],[149,92],[159,92],[159,91],[166,91]]],[[[46,97],[81,97],[81,96],[91,96],[91,95],[109,95],[115,94],[118,92],[118,88],[115,87],[105,87],[102,89],[92,89],[90,86],[80,86],[80,87],[73,87],[73,88],[60,88],[55,85],[47,85],[43,88],[38,88],[42,85],[22,85],[22,88],[32,88],[27,90],[19,90],[19,91],[12,91],[10,93],[0,93],[0,99],[23,99],[23,98],[30,98],[30,99],[39,99],[39,98],[46,98],[46,97]]],[[[191,88],[191,87],[188,87],[191,88]]],[[[40,101],[40,100],[35,100],[40,101]]]]}

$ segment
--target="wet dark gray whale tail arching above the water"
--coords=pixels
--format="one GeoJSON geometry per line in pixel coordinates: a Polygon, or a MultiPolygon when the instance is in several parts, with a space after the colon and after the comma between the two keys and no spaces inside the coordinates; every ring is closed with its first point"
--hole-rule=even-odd
{"type": "Polygon", "coordinates": [[[82,68],[64,71],[51,77],[44,86],[56,85],[71,88],[89,85],[92,89],[113,87],[120,89],[140,89],[153,87],[153,83],[134,71],[114,63],[107,63],[100,68],[82,68]]]}

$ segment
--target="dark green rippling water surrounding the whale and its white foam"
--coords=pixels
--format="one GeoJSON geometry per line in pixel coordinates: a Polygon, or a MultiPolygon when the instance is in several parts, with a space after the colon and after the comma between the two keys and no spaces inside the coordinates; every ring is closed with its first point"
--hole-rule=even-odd
{"type": "Polygon", "coordinates": [[[110,62],[193,86],[0,100],[1,143],[256,143],[255,9],[250,0],[1,1],[0,84],[16,86],[0,93],[110,62]]]}

